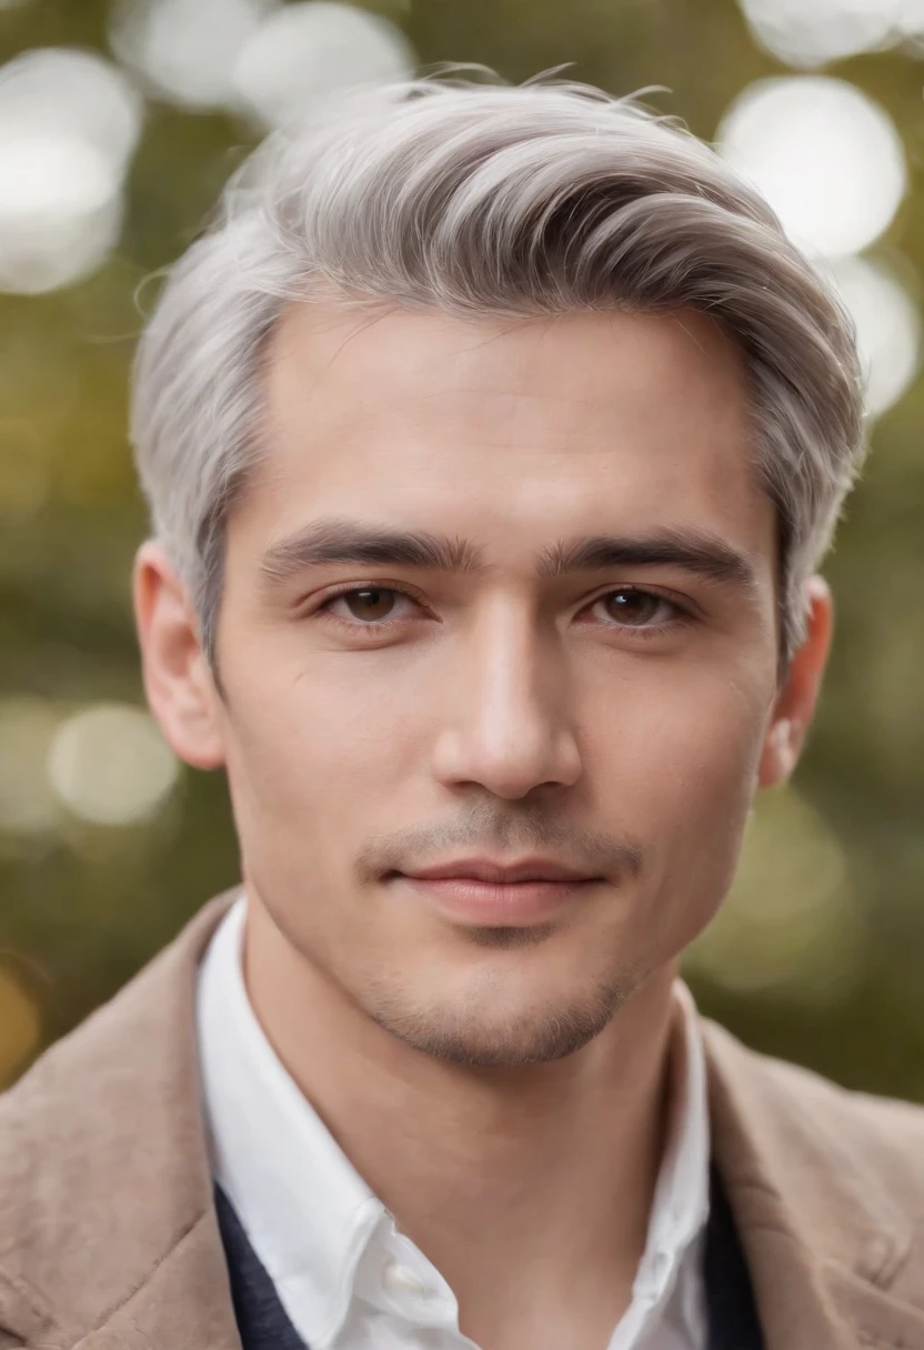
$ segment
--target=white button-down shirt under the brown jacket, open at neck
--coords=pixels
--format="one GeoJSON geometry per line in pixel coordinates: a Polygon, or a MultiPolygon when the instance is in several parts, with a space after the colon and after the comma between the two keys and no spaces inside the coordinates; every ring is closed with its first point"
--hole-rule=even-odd
{"type": "MultiPolygon", "coordinates": [[[[396,1227],[266,1040],[240,961],[245,896],[203,960],[201,1085],[215,1180],[311,1350],[477,1350],[451,1288],[396,1227]]],[[[609,1350],[705,1350],[702,1281],[709,1208],[704,1052],[684,1008],[679,1098],[657,1181],[632,1301],[609,1350]]]]}

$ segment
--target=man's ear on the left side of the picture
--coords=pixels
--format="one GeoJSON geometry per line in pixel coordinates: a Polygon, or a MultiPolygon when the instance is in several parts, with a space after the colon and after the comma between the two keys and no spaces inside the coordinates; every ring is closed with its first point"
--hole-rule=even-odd
{"type": "Polygon", "coordinates": [[[138,549],[132,583],[145,693],[168,744],[193,768],[224,763],[222,701],[199,621],[165,549],[138,549]]]}

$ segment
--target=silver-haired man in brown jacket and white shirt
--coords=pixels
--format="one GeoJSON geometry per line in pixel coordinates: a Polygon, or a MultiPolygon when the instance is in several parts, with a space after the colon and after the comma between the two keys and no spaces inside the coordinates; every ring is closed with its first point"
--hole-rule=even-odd
{"type": "Polygon", "coordinates": [[[677,979],[861,440],[836,304],[632,103],[269,142],[134,405],[147,697],[243,884],[4,1099],[0,1346],[924,1347],[921,1111],[677,979]]]}

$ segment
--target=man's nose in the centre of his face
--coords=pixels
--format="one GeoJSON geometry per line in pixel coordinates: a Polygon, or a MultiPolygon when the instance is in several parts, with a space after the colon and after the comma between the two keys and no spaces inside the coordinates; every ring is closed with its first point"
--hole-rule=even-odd
{"type": "Polygon", "coordinates": [[[447,787],[477,783],[508,799],[574,784],[581,756],[554,639],[508,606],[482,620],[454,653],[443,684],[435,776],[447,787]]]}

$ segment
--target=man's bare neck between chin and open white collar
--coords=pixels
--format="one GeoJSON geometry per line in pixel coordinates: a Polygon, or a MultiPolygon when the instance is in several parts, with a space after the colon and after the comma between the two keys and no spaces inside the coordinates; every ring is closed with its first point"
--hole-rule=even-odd
{"type": "Polygon", "coordinates": [[[584,1343],[605,1345],[631,1299],[663,1152],[674,968],[582,1050],[513,1071],[397,1041],[253,902],[245,973],[273,1049],[448,1281],[467,1335],[505,1343],[516,1308],[513,1343],[577,1343],[548,1330],[551,1310],[577,1303],[601,1328],[584,1343]],[[536,1318],[525,1339],[524,1307],[536,1318]]]}

